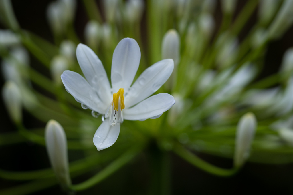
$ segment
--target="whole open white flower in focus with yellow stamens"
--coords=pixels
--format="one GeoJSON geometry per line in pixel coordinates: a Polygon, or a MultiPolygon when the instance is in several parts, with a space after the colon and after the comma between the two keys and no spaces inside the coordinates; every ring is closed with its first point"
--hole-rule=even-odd
{"type": "Polygon", "coordinates": [[[140,56],[139,46],[134,39],[125,38],[118,43],[112,60],[111,88],[98,56],[88,46],[79,44],[76,57],[86,79],[69,70],[65,70],[61,75],[66,90],[76,101],[82,103],[84,108],[105,115],[105,120],[93,138],[98,151],[115,143],[120,132],[120,123],[124,119],[159,118],[175,103],[170,94],[150,96],[171,75],[174,68],[173,60],[165,59],[155,63],[132,84],[140,56]]]}

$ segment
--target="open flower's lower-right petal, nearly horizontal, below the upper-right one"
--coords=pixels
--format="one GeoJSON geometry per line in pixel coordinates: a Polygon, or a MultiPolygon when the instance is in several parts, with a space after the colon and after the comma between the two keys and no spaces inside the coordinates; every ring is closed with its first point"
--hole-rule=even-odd
{"type": "Polygon", "coordinates": [[[173,96],[166,93],[150,96],[132,108],[123,110],[124,120],[146,120],[158,118],[163,112],[169,110],[175,100],[173,96]]]}

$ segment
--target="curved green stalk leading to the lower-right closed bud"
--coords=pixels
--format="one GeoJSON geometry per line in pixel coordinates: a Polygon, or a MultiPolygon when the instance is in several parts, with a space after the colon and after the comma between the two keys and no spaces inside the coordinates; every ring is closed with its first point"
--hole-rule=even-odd
{"type": "Polygon", "coordinates": [[[203,161],[201,158],[198,158],[195,154],[191,153],[190,151],[186,150],[182,146],[176,145],[173,151],[180,156],[181,158],[188,161],[190,164],[210,173],[213,175],[221,176],[221,177],[229,177],[235,175],[238,171],[236,168],[232,169],[224,169],[209,164],[203,161]]]}

